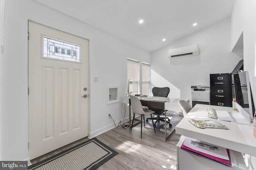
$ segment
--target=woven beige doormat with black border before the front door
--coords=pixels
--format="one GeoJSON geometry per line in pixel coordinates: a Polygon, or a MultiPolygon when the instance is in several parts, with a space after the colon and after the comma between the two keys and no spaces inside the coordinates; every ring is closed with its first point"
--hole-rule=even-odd
{"type": "Polygon", "coordinates": [[[96,138],[28,166],[29,170],[94,170],[118,152],[96,138]]]}

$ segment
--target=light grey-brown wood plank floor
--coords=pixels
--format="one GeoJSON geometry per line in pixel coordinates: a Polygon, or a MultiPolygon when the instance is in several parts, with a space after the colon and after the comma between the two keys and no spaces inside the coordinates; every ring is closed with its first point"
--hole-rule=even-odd
{"type": "MultiPolygon", "coordinates": [[[[100,166],[97,170],[161,170],[176,169],[176,144],[180,135],[172,133],[167,141],[164,141],[164,133],[142,127],[142,139],[140,138],[140,125],[129,129],[114,128],[96,137],[112,149],[118,155],[100,166]]],[[[36,158],[34,164],[70,147],[87,141],[82,139],[70,146],[51,152],[46,156],[36,158]]]]}

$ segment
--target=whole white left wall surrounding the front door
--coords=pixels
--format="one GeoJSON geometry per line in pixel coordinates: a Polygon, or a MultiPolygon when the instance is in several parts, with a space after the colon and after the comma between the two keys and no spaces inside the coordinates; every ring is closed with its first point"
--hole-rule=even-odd
{"type": "Polygon", "coordinates": [[[28,20],[89,39],[89,136],[122,119],[121,104],[107,104],[107,86],[127,89],[127,58],[150,63],[150,53],[32,0],[5,1],[4,55],[1,58],[1,160],[28,158],[28,20]],[[68,23],[68,24],[67,24],[68,23]],[[99,82],[93,82],[98,76],[99,82]]]}

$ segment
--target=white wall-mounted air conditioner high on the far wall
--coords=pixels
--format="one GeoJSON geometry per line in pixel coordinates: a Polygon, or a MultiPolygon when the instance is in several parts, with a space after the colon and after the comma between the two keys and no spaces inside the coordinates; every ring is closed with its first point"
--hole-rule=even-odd
{"type": "Polygon", "coordinates": [[[170,49],[169,51],[169,59],[175,57],[184,57],[184,56],[191,56],[191,55],[198,55],[199,54],[199,44],[190,45],[186,47],[180,47],[176,49],[170,49]]]}

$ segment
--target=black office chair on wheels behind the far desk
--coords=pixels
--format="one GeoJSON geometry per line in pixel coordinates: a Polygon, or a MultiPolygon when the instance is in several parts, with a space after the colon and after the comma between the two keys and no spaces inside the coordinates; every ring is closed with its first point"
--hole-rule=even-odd
{"type": "MultiPolygon", "coordinates": [[[[168,88],[168,87],[153,87],[152,88],[153,96],[167,97],[169,92],[170,92],[170,88],[168,88]]],[[[157,108],[149,108],[149,109],[154,111],[155,113],[153,113],[153,114],[157,115],[157,117],[147,118],[146,121],[151,120],[151,119],[156,120],[154,123],[154,126],[156,126],[156,123],[158,123],[160,121],[165,121],[164,117],[160,117],[160,115],[164,114],[163,109],[157,109],[157,108]]],[[[166,121],[166,123],[169,123],[169,127],[172,127],[172,124],[169,122],[170,119],[169,118],[166,118],[166,119],[168,119],[168,121],[166,121]]]]}

